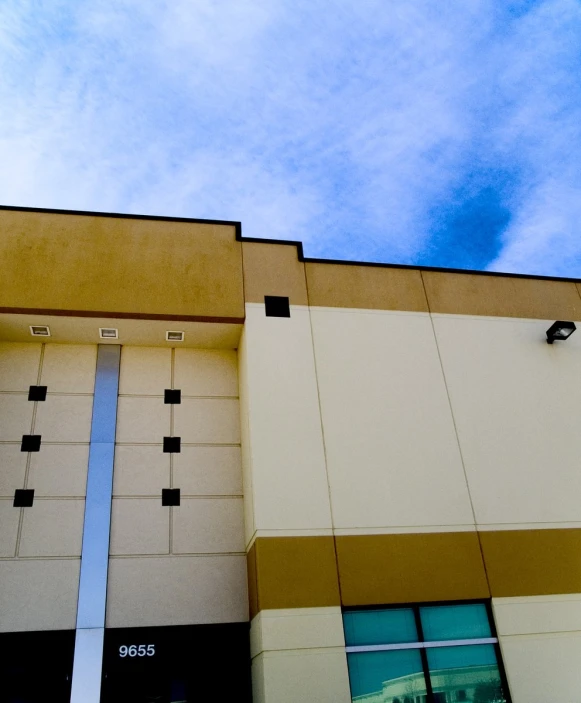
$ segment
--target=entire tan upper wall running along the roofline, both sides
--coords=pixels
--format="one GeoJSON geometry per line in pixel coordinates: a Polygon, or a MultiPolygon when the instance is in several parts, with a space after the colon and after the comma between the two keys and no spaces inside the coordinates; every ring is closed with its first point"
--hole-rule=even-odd
{"type": "Polygon", "coordinates": [[[234,223],[0,209],[0,310],[241,321],[265,295],[291,305],[581,319],[579,283],[316,262],[234,223]]]}

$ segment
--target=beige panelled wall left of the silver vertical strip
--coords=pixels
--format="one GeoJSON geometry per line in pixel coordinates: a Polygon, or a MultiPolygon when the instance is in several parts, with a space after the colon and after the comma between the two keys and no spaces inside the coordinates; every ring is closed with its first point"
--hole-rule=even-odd
{"type": "Polygon", "coordinates": [[[75,626],[96,345],[0,343],[0,630],[75,626]],[[47,386],[43,402],[31,385],[47,386]],[[24,434],[39,452],[20,451],[24,434]],[[14,491],[34,489],[30,508],[14,491]]]}

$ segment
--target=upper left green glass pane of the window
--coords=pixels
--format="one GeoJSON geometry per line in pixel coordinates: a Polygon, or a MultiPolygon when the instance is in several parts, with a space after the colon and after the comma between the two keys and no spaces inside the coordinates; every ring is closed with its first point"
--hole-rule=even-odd
{"type": "Polygon", "coordinates": [[[343,626],[348,647],[418,641],[411,608],[350,611],[343,613],[343,626]]]}

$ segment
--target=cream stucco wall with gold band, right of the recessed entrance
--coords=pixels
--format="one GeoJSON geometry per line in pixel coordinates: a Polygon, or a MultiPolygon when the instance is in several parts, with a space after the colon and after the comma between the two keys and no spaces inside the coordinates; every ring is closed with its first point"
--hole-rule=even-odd
{"type": "MultiPolygon", "coordinates": [[[[306,606],[492,594],[513,701],[573,700],[581,337],[547,345],[553,321],[339,306],[293,306],[286,319],[247,305],[253,630],[283,606],[305,624],[306,606]],[[301,494],[319,496],[330,533],[290,510],[301,494]]],[[[258,700],[292,699],[301,676],[288,662],[303,655],[291,644],[288,660],[274,644],[255,654],[258,700]]]]}

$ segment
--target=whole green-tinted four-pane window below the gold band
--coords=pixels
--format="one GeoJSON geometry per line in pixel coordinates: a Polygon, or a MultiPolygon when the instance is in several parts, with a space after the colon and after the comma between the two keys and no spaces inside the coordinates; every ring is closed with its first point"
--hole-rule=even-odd
{"type": "Polygon", "coordinates": [[[353,703],[509,702],[486,604],[353,610],[343,618],[353,703]]]}

